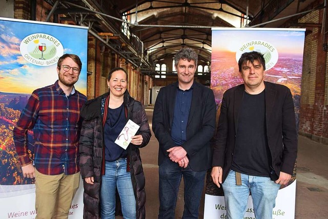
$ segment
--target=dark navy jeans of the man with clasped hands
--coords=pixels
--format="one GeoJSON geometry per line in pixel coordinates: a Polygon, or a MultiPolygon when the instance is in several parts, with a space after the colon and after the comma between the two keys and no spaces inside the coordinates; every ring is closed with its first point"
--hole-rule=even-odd
{"type": "Polygon", "coordinates": [[[181,177],[185,183],[185,210],[182,218],[198,218],[200,198],[204,187],[206,170],[193,171],[178,163],[165,159],[159,166],[159,214],[158,218],[174,218],[175,205],[178,197],[181,177]]]}

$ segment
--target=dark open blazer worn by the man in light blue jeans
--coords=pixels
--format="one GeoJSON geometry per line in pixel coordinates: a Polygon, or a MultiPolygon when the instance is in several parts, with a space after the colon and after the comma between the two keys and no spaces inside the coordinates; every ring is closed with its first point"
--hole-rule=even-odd
{"type": "MultiPolygon", "coordinates": [[[[286,86],[264,82],[265,121],[272,167],[292,174],[297,155],[297,129],[293,97],[286,86]]],[[[223,94],[212,166],[223,167],[222,182],[226,179],[234,156],[238,112],[244,93],[244,84],[223,94]]]]}

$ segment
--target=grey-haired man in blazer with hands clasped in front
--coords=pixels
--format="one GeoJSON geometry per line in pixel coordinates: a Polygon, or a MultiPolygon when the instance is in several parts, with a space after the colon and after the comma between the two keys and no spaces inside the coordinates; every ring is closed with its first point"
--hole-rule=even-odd
{"type": "Polygon", "coordinates": [[[204,178],[211,168],[216,106],[213,91],[194,81],[197,59],[194,50],[182,48],[174,57],[178,82],[161,88],[156,98],[153,131],[159,142],[158,218],[174,218],[182,176],[182,218],[198,218],[204,178]]]}

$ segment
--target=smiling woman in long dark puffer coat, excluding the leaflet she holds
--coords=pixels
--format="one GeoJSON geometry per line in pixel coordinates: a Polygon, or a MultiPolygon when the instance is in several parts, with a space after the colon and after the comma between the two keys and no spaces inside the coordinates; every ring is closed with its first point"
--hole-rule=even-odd
{"type": "MultiPolygon", "coordinates": [[[[129,95],[127,77],[122,68],[111,70],[109,92],[91,99],[81,109],[84,122],[79,152],[86,219],[114,219],[115,207],[119,206],[124,218],[146,217],[145,175],[139,148],[148,144],[151,132],[144,107],[129,95]],[[127,130],[128,120],[140,128],[125,150],[114,142],[123,129],[127,130]]],[[[124,133],[119,137],[127,140],[128,132],[124,133]]]]}

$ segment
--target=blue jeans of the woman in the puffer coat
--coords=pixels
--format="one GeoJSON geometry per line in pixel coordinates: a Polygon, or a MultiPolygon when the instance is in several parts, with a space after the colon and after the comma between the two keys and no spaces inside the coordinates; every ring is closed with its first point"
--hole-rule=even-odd
{"type": "Polygon", "coordinates": [[[127,172],[127,158],[119,158],[105,163],[100,189],[101,219],[115,218],[115,191],[118,191],[122,213],[126,219],[136,218],[136,201],[131,182],[131,174],[127,172]]]}

